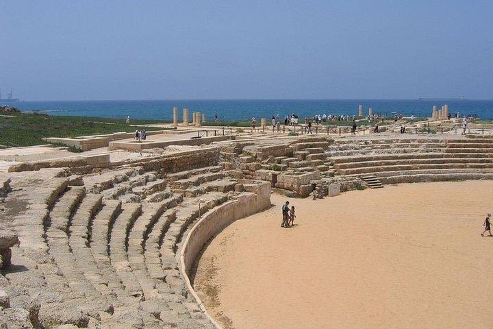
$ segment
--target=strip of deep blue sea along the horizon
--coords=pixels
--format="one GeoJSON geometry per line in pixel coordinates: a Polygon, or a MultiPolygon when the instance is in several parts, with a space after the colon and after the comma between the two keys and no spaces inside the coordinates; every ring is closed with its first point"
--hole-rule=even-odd
{"type": "Polygon", "coordinates": [[[129,115],[134,119],[173,119],[173,106],[179,107],[179,121],[183,119],[181,109],[188,107],[190,118],[192,112],[206,114],[207,120],[214,119],[251,119],[251,117],[272,117],[279,114],[295,113],[299,117],[314,114],[350,114],[356,115],[359,104],[379,114],[392,112],[415,117],[430,116],[433,105],[440,109],[448,104],[451,114],[476,114],[482,119],[493,118],[493,100],[453,100],[453,101],[419,101],[419,100],[153,100],[153,101],[22,101],[15,106],[20,110],[44,112],[50,115],[73,115],[90,117],[125,118],[129,115]]]}

